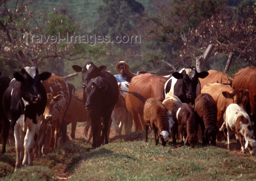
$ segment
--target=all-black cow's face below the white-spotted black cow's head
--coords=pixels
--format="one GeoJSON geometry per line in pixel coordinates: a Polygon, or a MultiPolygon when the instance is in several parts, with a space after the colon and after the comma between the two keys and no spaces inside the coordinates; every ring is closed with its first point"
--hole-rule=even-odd
{"type": "Polygon", "coordinates": [[[87,85],[86,92],[86,103],[84,107],[87,111],[90,111],[94,106],[97,106],[101,101],[99,100],[102,93],[108,88],[106,85],[98,86],[95,82],[90,81],[87,85]]]}

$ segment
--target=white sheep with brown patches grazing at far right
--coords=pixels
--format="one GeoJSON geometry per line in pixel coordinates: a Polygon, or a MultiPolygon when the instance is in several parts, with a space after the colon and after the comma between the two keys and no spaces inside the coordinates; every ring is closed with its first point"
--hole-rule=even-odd
{"type": "Polygon", "coordinates": [[[238,147],[244,153],[248,148],[251,155],[255,154],[256,140],[253,139],[253,129],[249,115],[237,104],[230,104],[224,114],[224,123],[219,131],[227,128],[227,149],[230,149],[230,130],[232,130],[237,139],[238,147]],[[245,147],[243,142],[245,139],[245,147]]]}

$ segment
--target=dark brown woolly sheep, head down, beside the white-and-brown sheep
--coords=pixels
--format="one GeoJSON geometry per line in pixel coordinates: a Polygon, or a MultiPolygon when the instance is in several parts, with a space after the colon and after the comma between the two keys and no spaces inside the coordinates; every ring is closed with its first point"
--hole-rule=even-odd
{"type": "Polygon", "coordinates": [[[210,94],[202,93],[196,97],[195,112],[197,119],[201,124],[203,133],[203,143],[209,143],[211,140],[212,145],[216,145],[216,135],[218,133],[217,123],[217,104],[210,94]]]}

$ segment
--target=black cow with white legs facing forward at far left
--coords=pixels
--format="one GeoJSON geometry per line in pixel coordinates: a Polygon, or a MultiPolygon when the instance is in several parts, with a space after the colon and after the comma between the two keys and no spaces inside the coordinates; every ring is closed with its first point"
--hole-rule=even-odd
{"type": "Polygon", "coordinates": [[[4,92],[3,109],[11,122],[15,138],[15,171],[21,166],[22,160],[23,166],[33,165],[34,135],[47,102],[41,80],[50,76],[49,72],[38,74],[35,67],[26,66],[14,73],[15,79],[4,92]]]}

